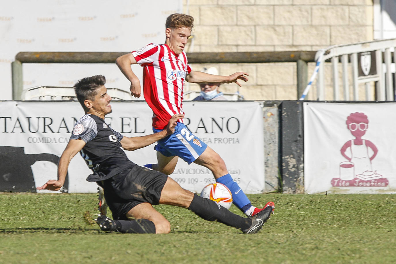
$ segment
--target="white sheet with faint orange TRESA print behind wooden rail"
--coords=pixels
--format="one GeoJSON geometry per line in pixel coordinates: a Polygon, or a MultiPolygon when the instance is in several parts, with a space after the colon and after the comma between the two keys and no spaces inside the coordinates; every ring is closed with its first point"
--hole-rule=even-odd
{"type": "MultiPolygon", "coordinates": [[[[173,13],[183,13],[183,1],[1,1],[0,100],[13,98],[11,63],[20,51],[128,53],[149,43],[164,43],[166,18],[173,13]]],[[[23,89],[72,87],[77,80],[97,74],[107,77],[108,88],[129,92],[131,85],[113,63],[23,63],[22,67],[23,89]]],[[[143,68],[132,68],[141,79],[143,68]]]]}

